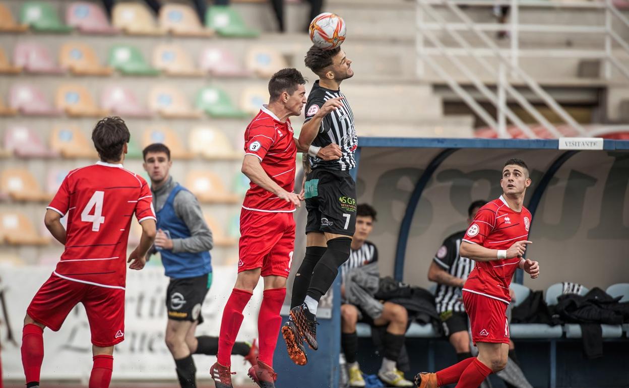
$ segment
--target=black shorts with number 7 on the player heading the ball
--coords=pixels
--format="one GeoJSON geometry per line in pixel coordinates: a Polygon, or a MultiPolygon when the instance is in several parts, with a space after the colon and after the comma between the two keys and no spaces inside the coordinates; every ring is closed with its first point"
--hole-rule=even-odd
{"type": "Polygon", "coordinates": [[[356,184],[347,171],[315,169],[304,186],[311,231],[353,236],[356,230],[356,184]]]}

